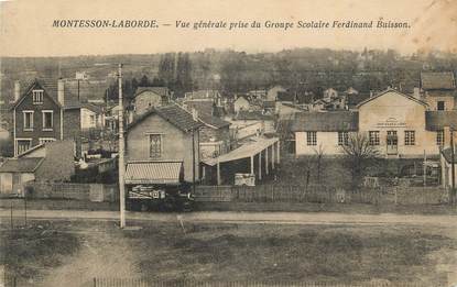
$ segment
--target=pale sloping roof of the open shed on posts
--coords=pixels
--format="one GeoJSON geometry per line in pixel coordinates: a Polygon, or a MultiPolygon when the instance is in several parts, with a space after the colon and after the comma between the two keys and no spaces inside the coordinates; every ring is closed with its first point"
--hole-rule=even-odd
{"type": "Polygon", "coordinates": [[[232,161],[237,161],[241,158],[251,157],[266,150],[266,147],[270,147],[271,145],[275,144],[278,141],[279,141],[278,137],[255,139],[252,142],[246,143],[241,145],[240,147],[227,154],[224,154],[217,158],[208,158],[206,161],[203,161],[203,163],[214,166],[217,163],[227,163],[227,162],[232,162],[232,161]]]}

